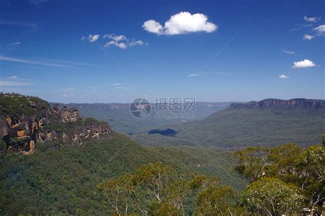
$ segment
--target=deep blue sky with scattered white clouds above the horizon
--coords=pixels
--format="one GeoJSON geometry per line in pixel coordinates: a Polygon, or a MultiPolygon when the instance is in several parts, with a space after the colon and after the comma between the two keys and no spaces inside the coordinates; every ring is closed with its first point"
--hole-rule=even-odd
{"type": "Polygon", "coordinates": [[[0,1],[0,91],[63,103],[324,97],[325,1],[0,1]]]}

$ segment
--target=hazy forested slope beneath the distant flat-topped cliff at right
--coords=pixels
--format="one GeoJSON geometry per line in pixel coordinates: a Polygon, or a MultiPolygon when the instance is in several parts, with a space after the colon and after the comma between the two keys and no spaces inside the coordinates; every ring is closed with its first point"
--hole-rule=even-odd
{"type": "Polygon", "coordinates": [[[289,142],[307,147],[320,143],[324,121],[324,108],[227,108],[201,121],[169,125],[168,128],[177,133],[173,137],[164,137],[161,143],[157,134],[136,134],[132,139],[147,145],[173,145],[180,140],[182,143],[193,143],[192,145],[230,149],[289,142]]]}

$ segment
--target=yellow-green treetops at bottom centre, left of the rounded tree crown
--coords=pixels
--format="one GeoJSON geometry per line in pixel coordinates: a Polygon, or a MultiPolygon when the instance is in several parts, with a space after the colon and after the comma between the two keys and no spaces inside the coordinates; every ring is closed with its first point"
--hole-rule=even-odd
{"type": "Polygon", "coordinates": [[[241,209],[236,193],[219,184],[216,178],[177,173],[160,162],[140,167],[133,176],[128,175],[126,182],[121,176],[98,187],[109,203],[114,201],[110,206],[118,215],[121,215],[119,207],[127,206],[119,200],[121,190],[125,192],[123,199],[137,207],[133,211],[143,215],[228,215],[241,209]]]}

